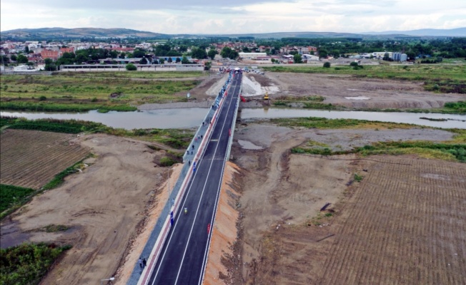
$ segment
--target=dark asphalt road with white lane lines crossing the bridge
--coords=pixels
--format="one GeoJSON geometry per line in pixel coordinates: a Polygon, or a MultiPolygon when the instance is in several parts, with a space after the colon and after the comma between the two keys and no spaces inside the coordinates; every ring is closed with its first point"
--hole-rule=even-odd
{"type": "Polygon", "coordinates": [[[196,171],[175,215],[159,260],[148,284],[201,284],[214,223],[220,185],[227,161],[229,130],[241,88],[242,74],[235,74],[219,112],[212,136],[197,162],[196,171]],[[187,207],[188,213],[182,210],[187,207]]]}

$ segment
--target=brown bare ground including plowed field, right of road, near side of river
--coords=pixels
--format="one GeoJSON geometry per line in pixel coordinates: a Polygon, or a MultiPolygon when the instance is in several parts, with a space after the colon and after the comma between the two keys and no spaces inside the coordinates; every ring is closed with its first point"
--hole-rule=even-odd
{"type": "MultiPolygon", "coordinates": [[[[387,131],[387,140],[410,140],[420,130],[387,131]]],[[[431,131],[427,140],[448,137],[431,131]]],[[[256,124],[235,132],[233,161],[247,171],[239,200],[242,279],[233,284],[464,283],[466,165],[289,152],[309,138],[333,147],[384,140],[378,132],[256,124]],[[248,150],[245,141],[263,149],[248,150]]]]}

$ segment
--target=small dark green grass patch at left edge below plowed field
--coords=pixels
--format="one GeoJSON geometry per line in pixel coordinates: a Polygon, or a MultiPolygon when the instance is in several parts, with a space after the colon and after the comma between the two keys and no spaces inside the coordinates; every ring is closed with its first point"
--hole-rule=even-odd
{"type": "MultiPolygon", "coordinates": [[[[17,209],[26,202],[29,202],[31,195],[33,195],[34,192],[35,190],[31,188],[0,184],[0,217],[3,217],[6,209],[17,209]]],[[[10,212],[11,211],[8,211],[5,215],[10,212]]]]}

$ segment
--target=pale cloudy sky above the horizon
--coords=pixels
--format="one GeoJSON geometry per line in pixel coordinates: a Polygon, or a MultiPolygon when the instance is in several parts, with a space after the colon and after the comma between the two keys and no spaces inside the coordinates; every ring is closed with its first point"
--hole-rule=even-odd
{"type": "Polygon", "coordinates": [[[466,27],[465,0],[1,0],[1,31],[133,28],[156,33],[403,31],[466,27]]]}

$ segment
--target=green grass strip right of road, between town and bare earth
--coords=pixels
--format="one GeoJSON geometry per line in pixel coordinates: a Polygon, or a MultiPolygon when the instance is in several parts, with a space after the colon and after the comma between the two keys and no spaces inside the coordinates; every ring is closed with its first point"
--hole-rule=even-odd
{"type": "Polygon", "coordinates": [[[265,71],[294,73],[344,74],[360,78],[382,78],[424,81],[425,90],[438,93],[466,93],[466,65],[379,65],[354,69],[352,66],[323,68],[322,66],[271,66],[265,71]]]}

